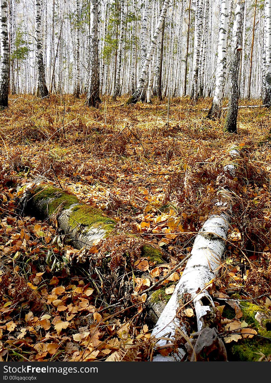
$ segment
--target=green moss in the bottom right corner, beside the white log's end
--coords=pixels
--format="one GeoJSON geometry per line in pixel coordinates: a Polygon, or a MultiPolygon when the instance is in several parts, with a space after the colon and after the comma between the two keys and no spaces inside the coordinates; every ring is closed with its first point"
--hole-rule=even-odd
{"type": "Polygon", "coordinates": [[[232,360],[257,362],[271,355],[271,312],[263,306],[250,302],[240,302],[243,312],[242,320],[254,328],[259,336],[245,339],[232,345],[230,354],[232,360]]]}

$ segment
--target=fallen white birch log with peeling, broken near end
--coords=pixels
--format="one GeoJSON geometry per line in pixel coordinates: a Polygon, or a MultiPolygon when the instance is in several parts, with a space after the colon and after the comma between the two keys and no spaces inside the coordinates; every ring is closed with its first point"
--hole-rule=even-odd
{"type": "MultiPolygon", "coordinates": [[[[232,159],[237,160],[240,157],[236,149],[231,149],[229,154],[232,159]]],[[[238,162],[226,165],[224,175],[229,178],[234,177],[237,164],[238,162]]],[[[180,329],[184,336],[188,337],[185,321],[181,321],[181,311],[190,307],[187,306],[188,304],[193,304],[198,331],[211,326],[214,321],[214,303],[207,286],[217,278],[219,272],[221,258],[226,247],[234,197],[229,188],[225,187],[219,190],[217,199],[215,207],[222,208],[222,212],[212,214],[196,236],[191,257],[180,281],[153,328],[152,336],[157,339],[157,349],[166,347],[168,342],[174,343],[180,329]]],[[[155,355],[153,361],[183,360],[185,354],[185,348],[179,347],[167,356],[155,355]]]]}

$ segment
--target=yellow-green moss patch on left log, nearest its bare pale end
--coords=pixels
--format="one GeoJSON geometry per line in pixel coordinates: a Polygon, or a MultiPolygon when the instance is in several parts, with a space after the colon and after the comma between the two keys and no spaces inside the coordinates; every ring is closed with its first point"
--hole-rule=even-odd
{"type": "Polygon", "coordinates": [[[70,227],[77,228],[79,225],[90,228],[102,228],[106,234],[113,231],[116,226],[116,221],[103,216],[99,210],[93,209],[87,205],[77,205],[70,213],[70,227]]]}

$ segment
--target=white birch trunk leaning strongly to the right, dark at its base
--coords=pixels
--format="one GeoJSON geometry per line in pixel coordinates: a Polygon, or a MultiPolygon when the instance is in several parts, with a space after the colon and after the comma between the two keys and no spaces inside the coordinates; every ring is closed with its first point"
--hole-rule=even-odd
{"type": "Polygon", "coordinates": [[[153,53],[154,53],[154,50],[155,50],[157,39],[158,39],[159,34],[161,33],[163,21],[165,20],[165,15],[167,13],[168,4],[169,4],[169,0],[165,0],[165,2],[163,3],[163,7],[162,7],[161,14],[160,14],[160,18],[158,20],[155,32],[153,34],[153,39],[152,39],[152,42],[150,44],[149,51],[147,53],[147,57],[146,57],[145,63],[143,65],[142,72],[140,74],[139,85],[138,85],[137,89],[135,90],[135,92],[133,93],[133,95],[128,99],[127,105],[135,104],[139,100],[139,97],[141,95],[142,89],[144,87],[144,82],[145,82],[145,79],[146,79],[146,76],[147,76],[147,73],[148,73],[149,65],[150,65],[150,62],[151,62],[152,57],[153,57],[153,53]]]}

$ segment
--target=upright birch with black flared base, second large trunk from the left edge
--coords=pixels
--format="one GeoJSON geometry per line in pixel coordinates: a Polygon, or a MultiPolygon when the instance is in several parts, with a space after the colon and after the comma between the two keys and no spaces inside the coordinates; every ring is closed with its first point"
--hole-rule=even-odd
{"type": "Polygon", "coordinates": [[[38,66],[38,89],[37,96],[47,97],[49,92],[45,81],[45,70],[42,55],[42,39],[41,39],[41,1],[36,1],[36,62],[38,66]]]}

